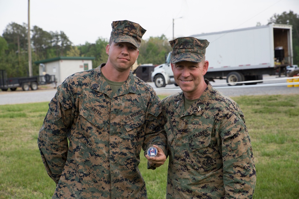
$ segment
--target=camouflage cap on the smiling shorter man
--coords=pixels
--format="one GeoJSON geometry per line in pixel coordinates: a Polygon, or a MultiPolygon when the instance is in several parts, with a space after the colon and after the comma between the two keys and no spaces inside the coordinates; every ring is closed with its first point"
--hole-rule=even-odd
{"type": "Polygon", "coordinates": [[[179,37],[169,43],[173,48],[170,62],[174,64],[180,61],[201,62],[210,42],[194,37],[179,37]]]}

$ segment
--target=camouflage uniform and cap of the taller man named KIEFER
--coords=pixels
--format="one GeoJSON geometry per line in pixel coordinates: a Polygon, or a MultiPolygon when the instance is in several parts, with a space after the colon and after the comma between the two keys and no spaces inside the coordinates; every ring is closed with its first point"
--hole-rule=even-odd
{"type": "MultiPolygon", "coordinates": [[[[114,21],[111,39],[139,48],[145,31],[131,21],[114,21]]],[[[69,76],[49,103],[38,146],[57,184],[53,198],[147,198],[138,169],[141,148],[156,144],[166,150],[153,88],[129,72],[113,92],[104,66],[69,76]]]]}

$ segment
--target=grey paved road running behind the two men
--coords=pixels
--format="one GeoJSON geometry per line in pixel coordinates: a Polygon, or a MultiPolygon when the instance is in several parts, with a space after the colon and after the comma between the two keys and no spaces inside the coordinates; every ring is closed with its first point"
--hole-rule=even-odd
{"type": "MultiPolygon", "coordinates": [[[[263,76],[264,82],[251,86],[238,86],[228,87],[225,80],[216,80],[211,82],[213,87],[223,92],[230,97],[240,95],[286,95],[286,94],[299,94],[299,87],[287,87],[286,85],[273,86],[275,84],[285,84],[285,77],[277,76],[263,76]],[[271,81],[267,81],[271,80],[271,81]],[[270,85],[269,85],[270,84],[270,85]]],[[[155,88],[153,82],[149,82],[155,88]]],[[[164,88],[155,88],[158,95],[171,95],[177,92],[181,92],[179,87],[175,87],[174,84],[167,85],[164,88]]],[[[22,104],[33,102],[49,102],[54,97],[56,89],[54,87],[48,87],[47,89],[39,89],[35,91],[0,91],[0,105],[3,104],[22,104]]]]}

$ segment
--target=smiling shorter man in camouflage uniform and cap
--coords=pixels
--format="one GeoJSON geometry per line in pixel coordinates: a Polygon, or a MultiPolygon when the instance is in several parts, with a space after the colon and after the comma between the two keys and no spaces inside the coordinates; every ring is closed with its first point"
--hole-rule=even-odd
{"type": "MultiPolygon", "coordinates": [[[[184,63],[206,62],[207,40],[186,37],[170,44],[173,70],[183,70],[184,63]]],[[[256,172],[244,115],[236,102],[203,79],[205,72],[206,87],[186,105],[187,86],[195,81],[186,75],[194,70],[192,63],[189,67],[181,72],[185,82],[179,82],[184,78],[174,71],[183,92],[162,100],[169,149],[167,198],[252,198],[256,172]]]]}

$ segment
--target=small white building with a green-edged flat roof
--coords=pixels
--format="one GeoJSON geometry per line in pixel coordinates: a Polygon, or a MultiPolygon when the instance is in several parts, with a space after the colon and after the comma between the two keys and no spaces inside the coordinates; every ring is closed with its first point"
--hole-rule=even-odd
{"type": "Polygon", "coordinates": [[[92,69],[92,60],[94,57],[55,57],[41,61],[35,61],[39,64],[39,75],[55,75],[57,84],[61,84],[68,76],[92,69]]]}

